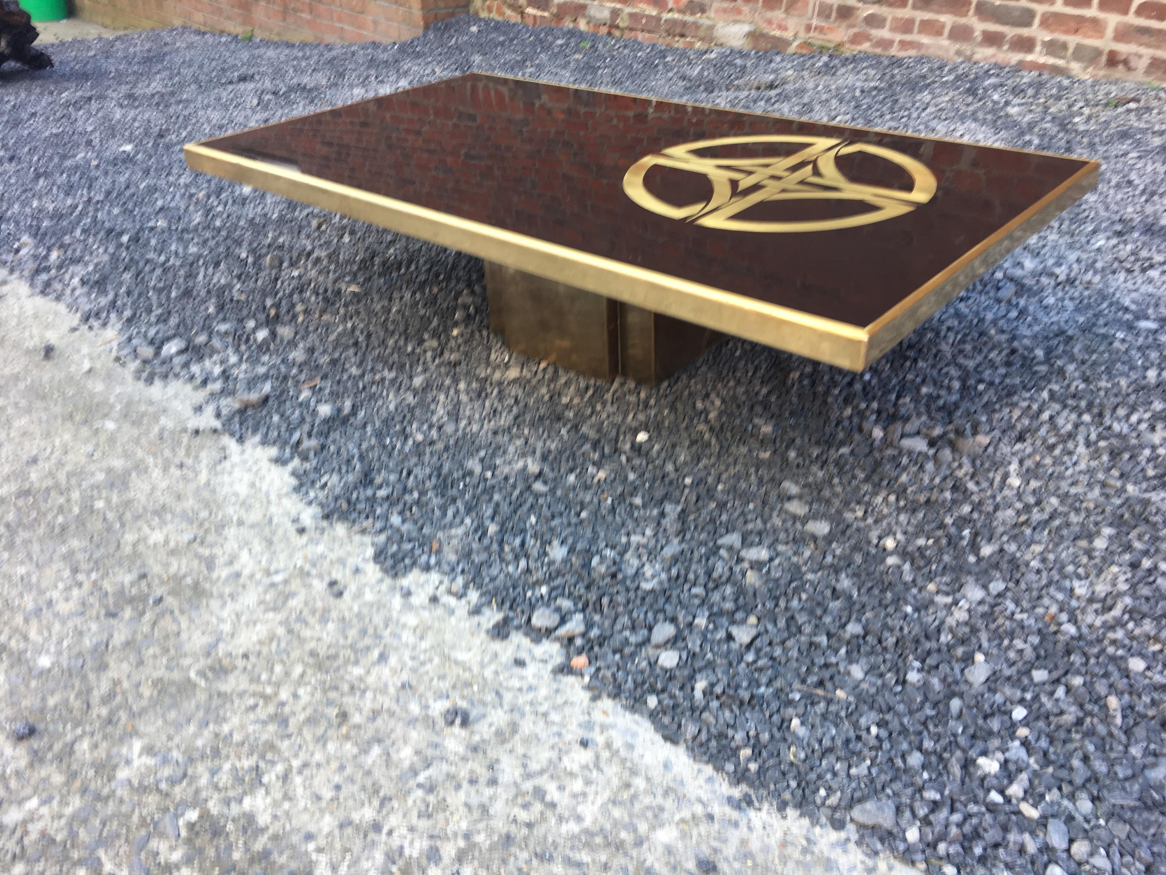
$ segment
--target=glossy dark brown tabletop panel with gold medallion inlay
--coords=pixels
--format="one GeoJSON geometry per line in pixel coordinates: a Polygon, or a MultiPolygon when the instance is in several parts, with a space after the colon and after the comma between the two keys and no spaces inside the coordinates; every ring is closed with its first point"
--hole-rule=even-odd
{"type": "Polygon", "coordinates": [[[482,74],[205,145],[852,326],[1089,163],[482,74]]]}

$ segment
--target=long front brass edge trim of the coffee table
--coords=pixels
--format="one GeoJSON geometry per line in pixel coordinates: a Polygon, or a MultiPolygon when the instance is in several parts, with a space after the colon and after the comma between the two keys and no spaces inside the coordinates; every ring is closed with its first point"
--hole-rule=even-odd
{"type": "Polygon", "coordinates": [[[858,326],[635,267],[202,144],[183,147],[183,154],[194,170],[838,368],[851,371],[864,368],[868,332],[858,326]]]}

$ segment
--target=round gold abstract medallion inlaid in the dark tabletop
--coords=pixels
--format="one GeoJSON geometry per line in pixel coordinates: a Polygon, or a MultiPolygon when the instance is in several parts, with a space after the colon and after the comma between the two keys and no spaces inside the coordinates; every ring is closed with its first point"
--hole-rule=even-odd
{"type": "Polygon", "coordinates": [[[856,228],[902,216],[927,203],[935,195],[935,175],[927,164],[901,152],[865,142],[830,136],[721,136],[670,146],[641,158],[624,175],[627,196],[652,212],[725,231],[789,233],[856,228]],[[794,144],[802,146],[789,155],[768,158],[705,158],[701,149],[722,146],[794,144]],[[837,167],[843,155],[864,152],[898,164],[911,176],[907,191],[851,182],[837,167]],[[712,191],[708,201],[676,205],[648,191],[644,177],[653,167],[669,167],[707,176],[712,191]],[[872,209],[837,218],[802,222],[766,222],[739,217],[745,210],[773,201],[859,201],[872,209]]]}

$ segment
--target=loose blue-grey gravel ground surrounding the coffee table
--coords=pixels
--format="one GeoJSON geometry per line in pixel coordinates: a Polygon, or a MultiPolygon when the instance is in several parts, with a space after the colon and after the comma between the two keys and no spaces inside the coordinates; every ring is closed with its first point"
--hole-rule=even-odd
{"type": "Polygon", "coordinates": [[[1166,94],[471,18],[55,60],[0,74],[9,270],[146,380],[218,392],[387,569],[560,637],[562,671],[585,653],[740,804],[948,873],[1166,872],[1166,94]],[[865,374],[731,342],[644,390],[510,355],[476,259],[182,163],[472,69],[1087,155],[1102,183],[865,374]]]}

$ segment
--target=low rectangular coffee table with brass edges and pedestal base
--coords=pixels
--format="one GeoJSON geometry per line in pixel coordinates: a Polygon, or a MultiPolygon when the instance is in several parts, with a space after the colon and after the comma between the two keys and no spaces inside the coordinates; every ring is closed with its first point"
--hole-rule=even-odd
{"type": "Polygon", "coordinates": [[[649,385],[724,335],[861,371],[1100,170],[489,74],[192,144],[185,158],[479,256],[508,346],[649,385]]]}

